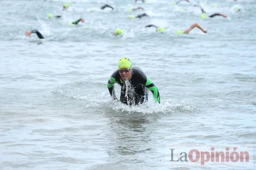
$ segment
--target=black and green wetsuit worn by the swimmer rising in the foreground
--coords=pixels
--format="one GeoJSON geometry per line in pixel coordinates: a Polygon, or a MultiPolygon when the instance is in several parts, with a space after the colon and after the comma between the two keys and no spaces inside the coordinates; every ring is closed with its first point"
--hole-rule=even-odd
{"type": "Polygon", "coordinates": [[[160,103],[160,96],[155,84],[144,74],[139,67],[132,67],[132,77],[129,82],[125,83],[121,78],[118,70],[115,71],[108,80],[108,90],[112,98],[116,99],[114,93],[114,83],[118,83],[121,86],[120,101],[127,105],[143,103],[148,99],[148,90],[153,93],[155,100],[160,103]],[[131,84],[131,87],[127,87],[127,84],[131,84]]]}

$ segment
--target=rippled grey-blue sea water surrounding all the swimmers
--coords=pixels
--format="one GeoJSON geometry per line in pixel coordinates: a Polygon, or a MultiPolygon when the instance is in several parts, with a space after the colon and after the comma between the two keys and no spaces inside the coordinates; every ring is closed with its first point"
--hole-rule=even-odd
{"type": "Polygon", "coordinates": [[[47,18],[66,2],[0,1],[0,169],[193,169],[166,166],[167,146],[255,143],[255,0],[208,0],[208,14],[229,17],[205,20],[196,0],[76,0],[47,18]],[[115,10],[99,9],[105,3],[115,10]],[[129,19],[143,12],[150,17],[129,19]],[[176,34],[193,23],[208,33],[176,34]],[[25,37],[31,29],[45,39],[25,37]],[[153,80],[161,104],[110,99],[106,82],[122,56],[153,80]]]}

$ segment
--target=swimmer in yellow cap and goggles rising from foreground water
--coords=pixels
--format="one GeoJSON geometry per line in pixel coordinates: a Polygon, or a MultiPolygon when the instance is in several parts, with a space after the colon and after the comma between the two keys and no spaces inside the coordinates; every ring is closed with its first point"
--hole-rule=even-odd
{"type": "Polygon", "coordinates": [[[121,86],[119,101],[124,104],[142,104],[145,100],[148,100],[148,90],[153,93],[155,101],[160,103],[160,95],[155,84],[139,67],[132,67],[130,60],[127,58],[119,60],[118,70],[114,71],[108,80],[110,96],[118,100],[114,92],[115,83],[121,86]]]}

